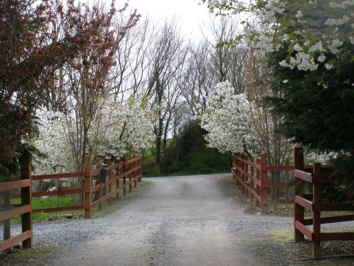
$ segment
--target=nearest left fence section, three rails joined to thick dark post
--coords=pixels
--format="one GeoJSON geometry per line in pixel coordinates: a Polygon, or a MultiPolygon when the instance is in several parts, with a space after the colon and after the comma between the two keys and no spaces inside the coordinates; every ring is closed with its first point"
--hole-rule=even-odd
{"type": "Polygon", "coordinates": [[[0,242],[0,252],[22,241],[23,248],[32,248],[32,197],[31,197],[31,165],[21,165],[21,180],[0,184],[0,192],[6,191],[1,206],[0,222],[4,221],[4,241],[0,242]],[[21,188],[21,204],[10,204],[10,191],[21,188]],[[22,215],[22,233],[11,237],[10,219],[22,215]]]}

